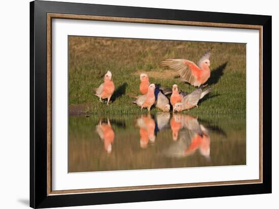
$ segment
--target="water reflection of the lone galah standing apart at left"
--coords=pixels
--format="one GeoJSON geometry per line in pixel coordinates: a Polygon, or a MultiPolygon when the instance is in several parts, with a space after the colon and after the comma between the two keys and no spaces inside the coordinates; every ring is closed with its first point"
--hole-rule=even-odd
{"type": "Polygon", "coordinates": [[[108,152],[112,152],[112,143],[114,141],[115,133],[111,126],[110,120],[108,119],[108,123],[102,123],[99,122],[98,125],[96,125],[96,131],[103,141],[104,149],[108,152]]]}

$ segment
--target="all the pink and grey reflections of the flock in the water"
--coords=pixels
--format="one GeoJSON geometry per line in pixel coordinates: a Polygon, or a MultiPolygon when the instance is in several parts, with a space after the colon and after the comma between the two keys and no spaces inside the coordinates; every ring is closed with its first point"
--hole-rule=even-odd
{"type": "MultiPolygon", "coordinates": [[[[117,124],[116,124],[117,125],[117,124]]],[[[199,123],[196,117],[186,114],[158,113],[154,116],[141,115],[136,119],[136,126],[140,128],[140,146],[147,148],[150,143],[155,143],[158,132],[171,130],[169,138],[172,135],[173,142],[162,153],[168,157],[186,157],[194,154],[197,150],[208,161],[210,161],[210,131],[199,123]]],[[[206,125],[206,127],[208,124],[206,125]]],[[[121,127],[124,126],[121,124],[121,127]]],[[[215,126],[211,131],[218,131],[226,136],[225,132],[215,126]]],[[[100,121],[96,125],[96,131],[103,141],[104,148],[108,153],[112,152],[115,133],[111,122],[100,121]]]]}

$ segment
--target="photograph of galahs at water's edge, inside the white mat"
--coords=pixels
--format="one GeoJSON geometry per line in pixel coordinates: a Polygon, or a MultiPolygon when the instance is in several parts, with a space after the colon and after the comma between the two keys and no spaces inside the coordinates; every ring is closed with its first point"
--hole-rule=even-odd
{"type": "Polygon", "coordinates": [[[246,43],[67,39],[68,172],[246,165],[246,43]]]}

